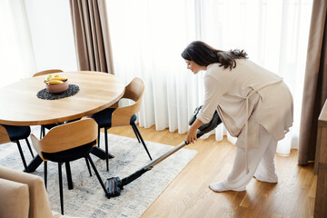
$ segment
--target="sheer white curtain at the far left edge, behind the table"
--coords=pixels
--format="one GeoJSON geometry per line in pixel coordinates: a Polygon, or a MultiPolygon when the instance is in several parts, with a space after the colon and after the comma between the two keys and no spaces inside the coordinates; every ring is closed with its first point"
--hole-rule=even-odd
{"type": "Polygon", "coordinates": [[[35,73],[35,58],[23,0],[0,1],[0,87],[35,73]]]}

